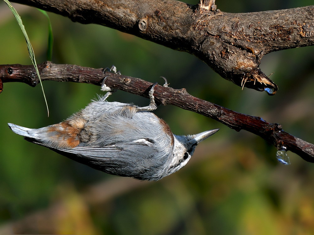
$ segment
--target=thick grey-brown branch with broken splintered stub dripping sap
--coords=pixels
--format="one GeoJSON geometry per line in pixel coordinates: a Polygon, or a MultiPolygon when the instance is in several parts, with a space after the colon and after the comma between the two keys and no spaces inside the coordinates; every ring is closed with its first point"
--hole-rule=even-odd
{"type": "Polygon", "coordinates": [[[276,93],[278,86],[260,69],[263,55],[313,45],[314,6],[286,10],[225,13],[214,0],[189,5],[175,0],[13,0],[101,24],[186,51],[238,86],[276,93]]]}

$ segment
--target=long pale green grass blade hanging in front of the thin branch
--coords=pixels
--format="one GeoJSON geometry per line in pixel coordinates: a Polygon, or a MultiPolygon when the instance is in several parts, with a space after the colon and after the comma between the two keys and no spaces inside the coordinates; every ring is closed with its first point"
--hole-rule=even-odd
{"type": "Polygon", "coordinates": [[[48,109],[48,104],[47,104],[47,100],[46,100],[46,96],[45,96],[45,92],[44,92],[44,87],[42,86],[42,83],[41,83],[41,78],[40,78],[40,75],[39,75],[39,71],[38,71],[38,68],[37,68],[37,64],[36,64],[36,60],[35,60],[35,54],[34,54],[34,50],[33,50],[33,47],[32,45],[30,44],[30,39],[26,33],[26,30],[24,28],[24,25],[23,25],[23,22],[22,22],[22,19],[21,17],[19,16],[19,14],[17,13],[17,11],[14,9],[14,7],[11,5],[11,3],[8,1],[8,0],[3,0],[5,3],[7,3],[8,7],[10,8],[10,10],[12,11],[16,21],[19,23],[19,26],[24,34],[24,37],[26,39],[26,44],[27,44],[27,50],[28,50],[28,53],[30,54],[30,59],[35,67],[35,70],[36,70],[36,73],[37,73],[37,76],[39,78],[39,81],[40,81],[40,84],[41,84],[41,90],[42,90],[42,93],[44,95],[44,99],[45,99],[45,102],[46,102],[46,107],[47,107],[47,112],[48,112],[48,117],[49,117],[49,109],[48,109]]]}

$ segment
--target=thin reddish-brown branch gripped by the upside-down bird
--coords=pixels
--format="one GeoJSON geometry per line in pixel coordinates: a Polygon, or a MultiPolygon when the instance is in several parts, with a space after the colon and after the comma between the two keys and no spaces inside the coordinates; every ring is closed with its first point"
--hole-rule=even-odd
{"type": "MultiPolygon", "coordinates": [[[[138,78],[128,77],[110,72],[103,73],[103,69],[93,69],[77,65],[57,65],[45,62],[38,66],[42,81],[73,81],[101,85],[105,76],[110,75],[106,85],[118,88],[143,97],[148,97],[148,91],[152,83],[138,78]]],[[[0,65],[0,79],[3,82],[24,82],[30,86],[36,86],[39,81],[32,65],[0,65]]],[[[314,162],[314,145],[296,138],[282,130],[277,123],[268,123],[260,117],[253,117],[234,112],[225,107],[191,96],[183,88],[176,90],[170,87],[155,86],[154,97],[156,102],[163,105],[172,104],[177,107],[197,112],[212,118],[226,126],[236,130],[246,130],[254,133],[277,149],[287,148],[304,160],[314,162]]]]}

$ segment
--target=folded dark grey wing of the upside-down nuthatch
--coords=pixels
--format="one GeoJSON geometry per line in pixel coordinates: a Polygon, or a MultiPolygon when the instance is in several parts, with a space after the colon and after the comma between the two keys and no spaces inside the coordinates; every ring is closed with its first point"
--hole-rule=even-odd
{"type": "Polygon", "coordinates": [[[154,157],[154,150],[141,142],[119,143],[105,147],[80,146],[52,149],[70,159],[112,175],[141,179],[140,175],[159,168],[164,162],[154,157]]]}

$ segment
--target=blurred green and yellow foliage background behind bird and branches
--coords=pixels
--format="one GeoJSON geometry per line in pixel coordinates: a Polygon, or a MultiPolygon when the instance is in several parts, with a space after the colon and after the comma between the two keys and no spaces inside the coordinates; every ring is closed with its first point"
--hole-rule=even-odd
{"type": "MultiPolygon", "coordinates": [[[[186,1],[196,4],[197,1],[186,1]]],[[[294,8],[313,1],[217,1],[225,12],[294,8]]],[[[38,63],[46,61],[48,22],[35,8],[14,4],[38,63]]],[[[274,52],[261,68],[279,86],[273,97],[233,85],[192,55],[99,25],[48,13],[54,63],[93,68],[116,65],[122,74],[186,88],[237,112],[281,123],[314,143],[314,48],[274,52]]],[[[13,14],[0,2],[0,64],[31,64],[13,14]]],[[[177,173],[157,182],[107,175],[14,134],[7,123],[40,128],[84,108],[99,86],[47,81],[41,87],[4,83],[0,95],[0,233],[32,234],[314,234],[314,164],[174,106],[154,111],[176,134],[221,130],[202,142],[177,173]]],[[[149,100],[118,91],[109,101],[145,106],[149,100]]]]}

